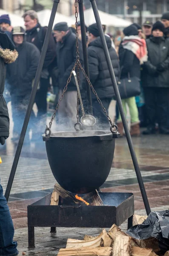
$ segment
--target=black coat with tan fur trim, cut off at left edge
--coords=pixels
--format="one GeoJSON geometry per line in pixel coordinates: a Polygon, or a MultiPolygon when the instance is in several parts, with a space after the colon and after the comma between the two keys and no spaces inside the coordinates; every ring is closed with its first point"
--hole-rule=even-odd
{"type": "MultiPolygon", "coordinates": [[[[10,41],[6,34],[0,33],[0,45],[5,49],[14,50],[14,44],[10,41]]],[[[3,98],[3,91],[6,79],[6,64],[13,62],[17,58],[17,52],[3,50],[0,47],[0,137],[9,137],[9,114],[8,108],[3,98]]]]}

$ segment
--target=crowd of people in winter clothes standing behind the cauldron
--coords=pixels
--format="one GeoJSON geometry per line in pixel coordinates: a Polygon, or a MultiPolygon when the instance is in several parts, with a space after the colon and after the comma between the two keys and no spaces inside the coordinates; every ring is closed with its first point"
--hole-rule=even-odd
{"type": "MultiPolygon", "coordinates": [[[[14,122],[12,140],[15,143],[20,137],[47,31],[47,27],[40,25],[35,11],[27,11],[23,19],[26,30],[20,26],[12,27],[9,15],[0,16],[1,33],[8,35],[18,53],[16,61],[6,66],[5,86],[10,93],[14,122]]],[[[157,130],[161,134],[169,134],[169,12],[164,13],[161,20],[155,24],[148,20],[142,26],[133,23],[123,29],[123,32],[117,31],[115,38],[111,33],[106,34],[105,25],[103,25],[103,31],[117,83],[125,78],[140,79],[140,96],[122,99],[125,113],[127,113],[126,106],[129,107],[131,135],[139,136],[140,126],[147,127],[143,134],[153,134],[157,130]]],[[[83,65],[80,22],[78,22],[77,32],[80,63],[83,65]]],[[[109,112],[110,102],[115,99],[115,93],[96,23],[86,26],[86,42],[90,81],[106,111],[109,112]]],[[[66,22],[54,25],[35,98],[37,113],[35,114],[32,110],[26,134],[27,141],[29,141],[30,129],[32,129],[33,141],[38,140],[42,133],[37,131],[36,125],[43,117],[46,118],[46,98],[51,84],[53,93],[56,94],[54,105],[60,99],[76,61],[76,45],[75,26],[69,27],[66,22]]],[[[84,106],[86,106],[86,81],[82,72],[80,72],[79,85],[84,106]]],[[[109,128],[106,115],[93,93],[92,106],[93,115],[99,127],[109,128]]],[[[57,111],[57,122],[71,129],[76,118],[77,88],[75,80],[71,79],[57,111]]],[[[123,123],[117,106],[116,122],[123,136],[123,123]]]]}

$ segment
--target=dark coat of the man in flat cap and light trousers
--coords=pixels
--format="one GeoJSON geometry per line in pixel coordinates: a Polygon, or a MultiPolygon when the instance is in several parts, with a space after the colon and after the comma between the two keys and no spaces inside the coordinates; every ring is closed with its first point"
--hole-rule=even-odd
{"type": "MultiPolygon", "coordinates": [[[[58,81],[59,89],[63,90],[67,80],[71,74],[71,71],[76,62],[76,36],[71,30],[64,36],[63,42],[57,42],[56,45],[56,55],[57,55],[57,67],[58,67],[58,81]]],[[[80,63],[83,66],[83,51],[82,43],[79,41],[79,55],[80,63]]],[[[76,70],[77,71],[77,70],[76,70]]],[[[82,83],[82,72],[80,72],[80,84],[82,83]]],[[[68,85],[68,90],[77,90],[74,77],[68,85]]]]}

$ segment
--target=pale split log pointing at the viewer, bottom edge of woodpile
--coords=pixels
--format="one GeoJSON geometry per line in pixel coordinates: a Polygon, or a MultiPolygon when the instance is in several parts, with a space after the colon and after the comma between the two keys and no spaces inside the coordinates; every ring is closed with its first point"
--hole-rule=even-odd
{"type": "Polygon", "coordinates": [[[114,245],[113,245],[113,255],[114,256],[130,256],[131,250],[132,250],[131,237],[117,234],[114,245]]]}

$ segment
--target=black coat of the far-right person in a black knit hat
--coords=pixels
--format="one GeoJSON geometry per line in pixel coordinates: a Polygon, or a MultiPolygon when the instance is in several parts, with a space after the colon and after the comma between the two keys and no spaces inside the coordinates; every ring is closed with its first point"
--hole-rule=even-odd
{"type": "Polygon", "coordinates": [[[146,44],[148,61],[143,65],[143,87],[169,87],[169,39],[151,37],[146,44]],[[159,64],[163,71],[157,71],[159,64]]]}

